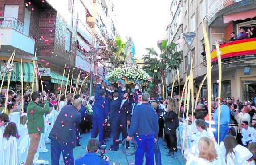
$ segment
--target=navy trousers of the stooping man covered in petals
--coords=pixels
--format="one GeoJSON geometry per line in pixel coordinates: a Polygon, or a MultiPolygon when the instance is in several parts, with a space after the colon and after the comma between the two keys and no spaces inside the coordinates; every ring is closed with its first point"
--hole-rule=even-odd
{"type": "Polygon", "coordinates": [[[51,139],[51,160],[52,165],[60,165],[60,156],[63,156],[65,165],[74,165],[73,148],[51,139]]]}

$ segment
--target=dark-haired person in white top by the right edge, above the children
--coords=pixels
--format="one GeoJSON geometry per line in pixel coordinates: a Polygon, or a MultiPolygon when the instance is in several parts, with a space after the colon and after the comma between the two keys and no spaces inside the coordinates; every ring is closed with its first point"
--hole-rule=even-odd
{"type": "Polygon", "coordinates": [[[252,136],[255,134],[255,129],[249,127],[248,121],[242,121],[242,142],[244,147],[248,147],[248,144],[252,141],[252,136]]]}

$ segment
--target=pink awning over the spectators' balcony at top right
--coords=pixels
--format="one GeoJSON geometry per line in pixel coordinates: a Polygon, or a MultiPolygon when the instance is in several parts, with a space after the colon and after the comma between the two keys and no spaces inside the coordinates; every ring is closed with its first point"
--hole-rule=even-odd
{"type": "Polygon", "coordinates": [[[247,18],[254,18],[256,16],[255,13],[256,13],[256,9],[245,11],[245,12],[239,12],[239,13],[236,13],[236,14],[230,14],[230,15],[227,15],[227,16],[223,16],[224,24],[229,23],[230,21],[245,20],[247,18]]]}

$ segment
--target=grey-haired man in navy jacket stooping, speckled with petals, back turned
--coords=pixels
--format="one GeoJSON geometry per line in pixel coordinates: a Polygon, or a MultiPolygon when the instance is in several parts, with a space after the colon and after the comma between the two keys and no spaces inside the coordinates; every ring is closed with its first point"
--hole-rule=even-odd
{"type": "Polygon", "coordinates": [[[75,99],[73,105],[66,105],[61,109],[60,114],[49,134],[51,139],[51,160],[53,165],[59,165],[60,155],[65,164],[73,165],[73,148],[76,144],[76,126],[81,123],[81,101],[75,99]]]}

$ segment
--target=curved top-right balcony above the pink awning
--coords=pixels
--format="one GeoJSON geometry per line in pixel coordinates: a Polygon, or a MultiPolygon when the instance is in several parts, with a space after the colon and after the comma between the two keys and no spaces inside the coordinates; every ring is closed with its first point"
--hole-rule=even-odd
{"type": "Polygon", "coordinates": [[[228,24],[225,21],[225,17],[231,16],[234,18],[232,15],[236,13],[240,13],[239,16],[235,17],[236,20],[253,18],[255,17],[253,12],[250,12],[250,15],[244,12],[256,9],[255,4],[256,2],[254,0],[213,0],[209,5],[210,11],[206,16],[207,23],[211,27],[225,27],[228,24]]]}

